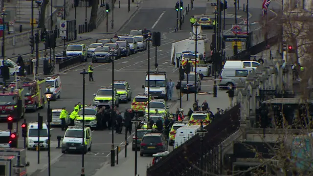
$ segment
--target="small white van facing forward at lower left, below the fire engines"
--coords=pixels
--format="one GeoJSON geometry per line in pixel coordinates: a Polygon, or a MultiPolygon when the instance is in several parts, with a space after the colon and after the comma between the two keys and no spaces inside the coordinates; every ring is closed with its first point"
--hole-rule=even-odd
{"type": "Polygon", "coordinates": [[[38,143],[41,149],[48,148],[48,127],[43,123],[43,129],[39,131],[40,137],[38,142],[38,122],[31,122],[27,126],[26,146],[27,149],[36,149],[38,143]]]}

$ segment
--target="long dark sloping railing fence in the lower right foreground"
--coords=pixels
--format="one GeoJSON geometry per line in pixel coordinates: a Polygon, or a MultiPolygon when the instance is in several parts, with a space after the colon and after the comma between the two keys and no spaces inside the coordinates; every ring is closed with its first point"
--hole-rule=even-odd
{"type": "Polygon", "coordinates": [[[225,110],[222,117],[205,126],[208,132],[203,136],[202,151],[201,137],[195,135],[184,144],[155,165],[147,168],[147,176],[200,176],[200,158],[203,156],[203,171],[213,174],[223,174],[221,147],[219,146],[240,127],[240,104],[230,110],[225,110]],[[227,122],[227,123],[225,123],[227,122]],[[173,164],[176,163],[176,164],[173,164]]]}

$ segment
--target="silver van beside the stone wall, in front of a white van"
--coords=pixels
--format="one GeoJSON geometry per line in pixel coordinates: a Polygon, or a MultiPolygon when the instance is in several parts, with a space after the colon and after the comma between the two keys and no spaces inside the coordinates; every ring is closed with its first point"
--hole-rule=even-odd
{"type": "Polygon", "coordinates": [[[236,87],[240,78],[246,81],[249,71],[253,68],[223,68],[220,74],[220,88],[236,87]]]}

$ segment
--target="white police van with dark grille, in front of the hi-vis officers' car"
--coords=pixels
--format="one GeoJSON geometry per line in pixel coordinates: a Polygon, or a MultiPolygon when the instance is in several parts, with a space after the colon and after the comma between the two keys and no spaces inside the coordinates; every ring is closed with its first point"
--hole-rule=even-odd
{"type": "Polygon", "coordinates": [[[91,130],[89,127],[84,129],[83,139],[83,127],[68,127],[64,134],[62,142],[62,153],[65,152],[84,152],[91,151],[91,130]],[[83,145],[83,143],[85,145],[83,145]],[[85,148],[84,148],[85,147],[85,148]]]}

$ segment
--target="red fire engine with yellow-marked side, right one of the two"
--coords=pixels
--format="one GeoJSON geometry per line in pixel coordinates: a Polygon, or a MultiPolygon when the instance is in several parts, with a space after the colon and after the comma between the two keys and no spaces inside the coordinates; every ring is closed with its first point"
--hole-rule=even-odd
{"type": "MultiPolygon", "coordinates": [[[[10,87],[15,87],[15,82],[11,83],[10,87]]],[[[22,89],[25,110],[36,111],[45,107],[45,79],[22,82],[22,89]]]]}

